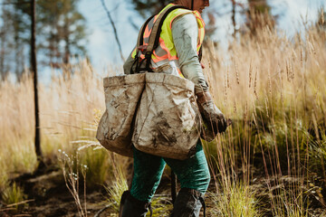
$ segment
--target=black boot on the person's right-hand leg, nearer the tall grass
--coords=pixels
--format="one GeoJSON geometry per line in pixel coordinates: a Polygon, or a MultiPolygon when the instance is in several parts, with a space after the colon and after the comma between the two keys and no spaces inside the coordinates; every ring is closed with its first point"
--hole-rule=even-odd
{"type": "Polygon", "coordinates": [[[205,216],[204,193],[200,193],[195,189],[181,188],[180,192],[177,193],[171,217],[199,217],[202,205],[204,206],[205,216]]]}

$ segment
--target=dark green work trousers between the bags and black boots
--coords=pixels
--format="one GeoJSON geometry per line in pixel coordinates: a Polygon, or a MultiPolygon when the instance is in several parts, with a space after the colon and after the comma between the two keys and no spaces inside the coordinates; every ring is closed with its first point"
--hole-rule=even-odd
{"type": "Polygon", "coordinates": [[[158,188],[166,164],[177,175],[181,188],[195,189],[206,193],[210,175],[206,156],[200,139],[197,142],[197,153],[186,160],[176,160],[153,156],[134,147],[134,176],[130,193],[142,202],[150,202],[158,188]]]}

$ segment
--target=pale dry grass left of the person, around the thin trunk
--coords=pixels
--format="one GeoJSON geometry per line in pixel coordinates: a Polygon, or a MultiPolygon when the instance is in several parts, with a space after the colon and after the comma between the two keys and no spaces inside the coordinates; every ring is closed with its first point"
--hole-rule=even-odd
{"type": "MultiPolygon", "coordinates": [[[[48,86],[40,84],[40,119],[43,155],[56,158],[58,149],[77,149],[73,140],[94,137],[95,113],[104,108],[101,76],[87,61],[73,66],[70,78],[53,72],[48,86]]],[[[40,71],[42,73],[42,71],[40,71]]],[[[19,83],[0,84],[0,166],[2,173],[31,172],[34,155],[33,79],[27,73],[19,83]]],[[[2,176],[2,175],[1,175],[2,176]]]]}

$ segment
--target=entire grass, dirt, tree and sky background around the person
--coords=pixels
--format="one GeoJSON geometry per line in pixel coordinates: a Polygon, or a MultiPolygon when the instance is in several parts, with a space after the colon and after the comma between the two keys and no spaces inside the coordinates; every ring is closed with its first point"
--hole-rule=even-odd
{"type": "MultiPolygon", "coordinates": [[[[117,214],[130,159],[95,139],[101,79],[122,73],[140,25],[167,4],[0,1],[1,215],[117,214]]],[[[206,80],[234,120],[224,135],[204,142],[212,175],[208,215],[326,214],[323,4],[211,1],[203,14],[206,80]]],[[[167,168],[153,201],[156,216],[171,210],[171,178],[167,168]]]]}

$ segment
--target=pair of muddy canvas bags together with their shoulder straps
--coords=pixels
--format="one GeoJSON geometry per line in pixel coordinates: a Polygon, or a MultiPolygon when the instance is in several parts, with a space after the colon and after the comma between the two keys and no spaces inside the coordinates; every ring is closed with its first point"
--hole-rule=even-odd
{"type": "Polygon", "coordinates": [[[97,139],[110,151],[132,156],[131,146],[134,145],[149,154],[176,159],[186,159],[196,153],[200,118],[194,84],[164,73],[139,74],[140,71],[152,72],[149,62],[158,46],[161,26],[167,15],[177,8],[185,7],[174,5],[158,15],[146,46],[142,36],[153,16],[143,24],[137,53],[140,49],[145,51],[146,59],[139,60],[137,55],[130,75],[104,79],[106,111],[98,127],[97,139]],[[146,68],[141,68],[144,61],[146,68]]]}

